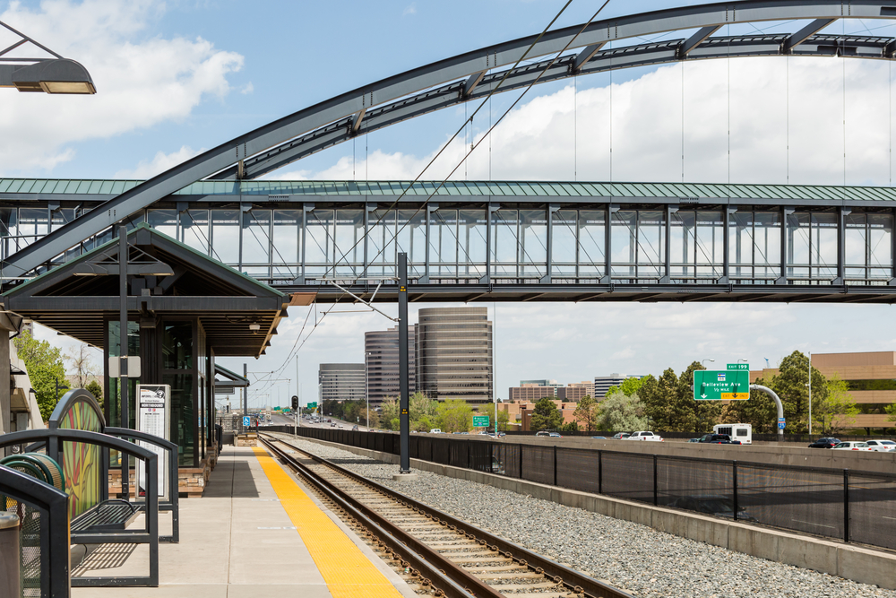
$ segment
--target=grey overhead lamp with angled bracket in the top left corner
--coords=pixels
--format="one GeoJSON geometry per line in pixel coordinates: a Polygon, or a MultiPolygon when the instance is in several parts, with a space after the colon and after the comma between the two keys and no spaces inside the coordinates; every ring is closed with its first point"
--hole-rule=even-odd
{"type": "Polygon", "coordinates": [[[19,36],[19,41],[0,50],[0,87],[14,87],[22,92],[76,93],[97,92],[90,73],[78,62],[59,56],[20,31],[0,21],[0,26],[19,36]],[[31,43],[56,56],[55,58],[13,58],[5,56],[23,44],[31,43]]]}

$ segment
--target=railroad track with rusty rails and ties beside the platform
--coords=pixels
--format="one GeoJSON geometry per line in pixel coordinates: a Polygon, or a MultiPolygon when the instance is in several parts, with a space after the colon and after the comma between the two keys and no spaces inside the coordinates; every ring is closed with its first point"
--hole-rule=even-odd
{"type": "Polygon", "coordinates": [[[633,598],[281,438],[269,433],[259,438],[358,526],[375,550],[398,560],[421,591],[449,598],[633,598]]]}

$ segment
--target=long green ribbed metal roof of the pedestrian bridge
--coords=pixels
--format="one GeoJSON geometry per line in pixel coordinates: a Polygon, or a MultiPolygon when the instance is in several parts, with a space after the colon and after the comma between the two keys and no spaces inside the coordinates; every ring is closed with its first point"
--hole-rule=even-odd
{"type": "MultiPolygon", "coordinates": [[[[118,195],[139,180],[0,178],[0,194],[118,195]]],[[[430,195],[434,181],[199,181],[174,195],[430,195]]],[[[607,183],[572,181],[448,181],[438,195],[508,197],[733,197],[896,201],[896,187],[750,185],[722,183],[607,183]]]]}

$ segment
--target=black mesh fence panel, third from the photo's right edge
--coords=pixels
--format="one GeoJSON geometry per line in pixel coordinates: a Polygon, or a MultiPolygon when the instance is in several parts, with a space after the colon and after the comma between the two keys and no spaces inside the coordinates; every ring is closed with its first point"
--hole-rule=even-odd
{"type": "Polygon", "coordinates": [[[727,462],[659,457],[657,493],[660,505],[731,516],[733,468],[727,462]],[[724,500],[719,500],[724,498],[724,500]]]}

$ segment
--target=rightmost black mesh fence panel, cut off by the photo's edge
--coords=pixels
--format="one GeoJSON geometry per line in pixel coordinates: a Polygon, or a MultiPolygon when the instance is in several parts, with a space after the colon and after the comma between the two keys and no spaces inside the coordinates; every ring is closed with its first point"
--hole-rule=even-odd
{"type": "Polygon", "coordinates": [[[849,472],[849,539],[896,549],[896,478],[849,472]]]}

